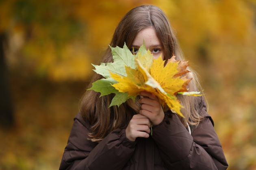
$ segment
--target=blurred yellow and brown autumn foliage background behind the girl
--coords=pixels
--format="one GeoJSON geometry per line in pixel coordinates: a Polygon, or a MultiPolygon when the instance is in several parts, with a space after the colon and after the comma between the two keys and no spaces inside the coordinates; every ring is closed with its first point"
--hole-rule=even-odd
{"type": "Polygon", "coordinates": [[[168,15],[229,170],[256,170],[255,0],[0,0],[0,170],[56,170],[78,102],[131,8],[168,15]]]}

